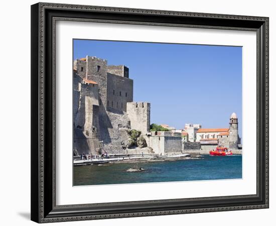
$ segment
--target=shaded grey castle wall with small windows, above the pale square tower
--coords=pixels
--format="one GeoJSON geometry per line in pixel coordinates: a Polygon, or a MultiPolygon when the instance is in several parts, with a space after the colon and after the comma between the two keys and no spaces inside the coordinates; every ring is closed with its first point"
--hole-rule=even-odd
{"type": "Polygon", "coordinates": [[[126,103],[133,101],[133,80],[107,73],[107,108],[126,111],[126,103]]]}

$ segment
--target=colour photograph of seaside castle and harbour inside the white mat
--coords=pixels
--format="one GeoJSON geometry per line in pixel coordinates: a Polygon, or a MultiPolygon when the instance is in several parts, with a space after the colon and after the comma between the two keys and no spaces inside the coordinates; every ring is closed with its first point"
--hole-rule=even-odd
{"type": "Polygon", "coordinates": [[[73,186],[243,178],[242,46],[72,45],[73,186]]]}

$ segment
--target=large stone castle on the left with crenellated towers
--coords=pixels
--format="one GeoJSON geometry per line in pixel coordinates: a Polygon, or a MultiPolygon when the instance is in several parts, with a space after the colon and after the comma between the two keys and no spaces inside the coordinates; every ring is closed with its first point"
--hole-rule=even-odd
{"type": "Polygon", "coordinates": [[[147,138],[151,105],[133,102],[126,66],[87,56],[75,60],[73,67],[74,151],[98,154],[102,144],[108,153],[127,153],[130,129],[147,138]]]}

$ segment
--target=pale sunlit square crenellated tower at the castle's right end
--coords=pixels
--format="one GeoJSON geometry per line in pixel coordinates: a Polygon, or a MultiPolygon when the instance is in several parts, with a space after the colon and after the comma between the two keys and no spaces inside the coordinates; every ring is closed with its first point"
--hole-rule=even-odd
{"type": "Polygon", "coordinates": [[[130,128],[146,135],[150,131],[151,104],[148,102],[127,102],[126,114],[130,120],[130,128]]]}

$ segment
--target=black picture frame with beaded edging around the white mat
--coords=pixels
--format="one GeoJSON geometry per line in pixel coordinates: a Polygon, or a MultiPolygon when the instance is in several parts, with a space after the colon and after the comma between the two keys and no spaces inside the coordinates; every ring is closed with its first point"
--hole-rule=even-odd
{"type": "Polygon", "coordinates": [[[31,219],[88,220],[268,208],[268,18],[38,3],[31,6],[31,219]],[[56,205],[57,20],[246,30],[257,33],[257,192],[254,195],[56,205]]]}

